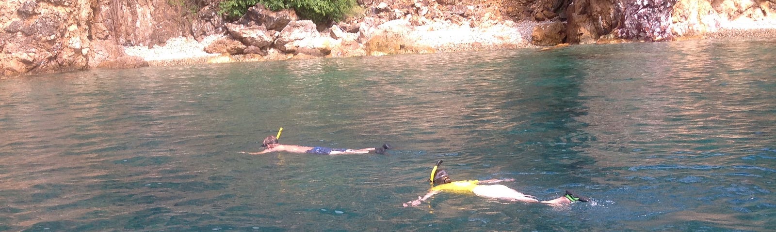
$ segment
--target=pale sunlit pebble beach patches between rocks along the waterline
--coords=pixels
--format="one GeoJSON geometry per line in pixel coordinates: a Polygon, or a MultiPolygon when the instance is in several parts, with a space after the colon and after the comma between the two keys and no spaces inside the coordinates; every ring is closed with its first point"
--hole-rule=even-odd
{"type": "MultiPolygon", "coordinates": [[[[531,33],[539,22],[493,22],[480,27],[434,22],[415,27],[411,32],[418,43],[428,44],[439,52],[473,49],[519,49],[538,47],[531,44],[531,33]],[[507,46],[504,46],[507,45],[507,46]]],[[[171,66],[207,63],[220,54],[206,53],[203,48],[223,35],[207,36],[202,41],[192,38],[172,38],[164,46],[128,46],[130,56],[140,56],[151,66],[171,66]]],[[[776,22],[726,22],[716,32],[701,36],[713,38],[776,37],[776,22]]],[[[687,38],[695,39],[695,38],[687,38]]]]}

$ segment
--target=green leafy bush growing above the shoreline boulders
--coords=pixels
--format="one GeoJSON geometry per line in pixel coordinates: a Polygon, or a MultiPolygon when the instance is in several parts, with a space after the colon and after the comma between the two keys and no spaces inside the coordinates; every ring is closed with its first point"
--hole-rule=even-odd
{"type": "Polygon", "coordinates": [[[302,19],[314,22],[328,22],[345,19],[356,6],[355,0],[224,0],[218,7],[220,13],[237,19],[248,12],[248,8],[262,3],[267,9],[293,9],[302,19]]]}

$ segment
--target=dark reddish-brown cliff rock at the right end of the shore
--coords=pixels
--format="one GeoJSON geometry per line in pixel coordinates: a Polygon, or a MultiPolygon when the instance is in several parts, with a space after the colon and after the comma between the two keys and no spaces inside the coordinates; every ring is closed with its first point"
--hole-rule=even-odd
{"type": "Polygon", "coordinates": [[[666,41],[702,36],[741,22],[776,22],[776,2],[767,0],[577,0],[570,2],[567,43],[624,39],[666,41]]]}

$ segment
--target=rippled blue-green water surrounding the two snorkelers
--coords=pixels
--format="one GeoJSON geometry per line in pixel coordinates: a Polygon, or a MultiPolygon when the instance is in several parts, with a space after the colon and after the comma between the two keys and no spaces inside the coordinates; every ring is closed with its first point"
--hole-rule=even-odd
{"type": "Polygon", "coordinates": [[[0,80],[0,231],[768,231],[776,40],[0,80]],[[281,142],[386,155],[307,155],[281,142]],[[428,190],[504,183],[549,200],[428,190]]]}

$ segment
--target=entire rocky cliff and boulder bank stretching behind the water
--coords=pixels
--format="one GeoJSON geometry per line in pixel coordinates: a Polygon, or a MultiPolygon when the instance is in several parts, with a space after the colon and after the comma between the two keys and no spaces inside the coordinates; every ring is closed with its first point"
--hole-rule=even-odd
{"type": "Polygon", "coordinates": [[[361,0],[362,15],[329,25],[260,8],[225,22],[219,1],[6,0],[0,2],[0,70],[10,76],[142,67],[147,61],[126,56],[125,46],[181,36],[225,35],[206,49],[261,60],[509,49],[524,40],[538,46],[667,41],[740,25],[776,27],[776,0],[361,0]],[[525,25],[536,26],[532,35],[521,34],[525,25]],[[480,36],[445,42],[449,34],[440,30],[480,36]]]}

